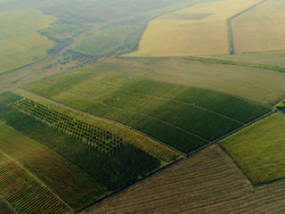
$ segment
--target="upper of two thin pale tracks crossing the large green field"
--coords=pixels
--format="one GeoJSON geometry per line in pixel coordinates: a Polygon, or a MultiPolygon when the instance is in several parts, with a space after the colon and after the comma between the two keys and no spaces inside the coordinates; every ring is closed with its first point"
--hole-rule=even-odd
{"type": "Polygon", "coordinates": [[[150,95],[150,94],[147,94],[147,93],[140,93],[140,92],[134,92],[133,90],[131,89],[124,89],[123,87],[120,87],[120,86],[112,86],[108,83],[104,83],[104,82],[101,82],[101,81],[98,81],[98,80],[87,80],[87,81],[90,81],[90,82],[96,82],[96,83],[100,83],[102,85],[105,85],[105,86],[111,86],[111,87],[115,87],[115,88],[118,88],[118,89],[122,89],[122,91],[127,91],[127,92],[132,92],[134,94],[137,94],[137,95],[147,95],[147,96],[151,96],[151,97],[156,97],[156,98],[159,98],[159,99],[163,99],[163,100],[167,100],[167,101],[173,101],[175,103],[183,103],[183,104],[186,104],[186,105],[190,105],[194,108],[197,108],[197,109],[200,109],[200,110],[203,110],[203,111],[208,111],[210,113],[214,113],[216,115],[219,115],[221,117],[223,117],[224,119],[229,119],[229,120],[232,120],[232,121],[235,121],[237,123],[241,123],[241,124],[244,124],[243,122],[239,121],[239,120],[236,120],[236,119],[232,119],[231,117],[228,117],[226,115],[223,115],[221,113],[218,113],[216,111],[212,111],[212,110],[209,110],[207,108],[204,108],[204,107],[201,107],[199,105],[194,105],[194,104],[191,104],[191,103],[187,103],[187,102],[183,102],[183,101],[180,101],[180,100],[177,100],[177,99],[171,99],[171,98],[167,98],[165,96],[159,96],[159,95],[150,95]]]}

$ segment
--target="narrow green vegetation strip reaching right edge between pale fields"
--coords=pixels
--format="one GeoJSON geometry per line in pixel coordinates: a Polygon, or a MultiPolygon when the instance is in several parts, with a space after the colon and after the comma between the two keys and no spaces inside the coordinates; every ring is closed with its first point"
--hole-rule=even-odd
{"type": "Polygon", "coordinates": [[[236,62],[236,61],[221,60],[221,59],[206,58],[206,57],[197,57],[197,56],[187,56],[187,57],[183,57],[183,59],[191,60],[194,62],[208,62],[208,63],[215,63],[215,64],[239,65],[239,66],[252,67],[256,69],[275,70],[275,71],[285,72],[284,67],[268,65],[268,64],[260,64],[260,63],[252,63],[252,62],[236,62]]]}

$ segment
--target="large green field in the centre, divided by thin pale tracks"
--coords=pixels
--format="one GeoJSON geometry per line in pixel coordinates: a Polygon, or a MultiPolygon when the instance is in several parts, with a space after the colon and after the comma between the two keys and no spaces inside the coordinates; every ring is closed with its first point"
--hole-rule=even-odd
{"type": "Polygon", "coordinates": [[[271,111],[232,95],[87,66],[25,86],[191,152],[271,111]]]}

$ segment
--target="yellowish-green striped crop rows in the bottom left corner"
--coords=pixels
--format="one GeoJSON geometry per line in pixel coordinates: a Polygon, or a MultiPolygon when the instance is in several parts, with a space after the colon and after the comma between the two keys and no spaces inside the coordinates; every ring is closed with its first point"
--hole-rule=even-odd
{"type": "Polygon", "coordinates": [[[20,214],[69,212],[69,207],[65,203],[2,154],[0,194],[20,214]]]}

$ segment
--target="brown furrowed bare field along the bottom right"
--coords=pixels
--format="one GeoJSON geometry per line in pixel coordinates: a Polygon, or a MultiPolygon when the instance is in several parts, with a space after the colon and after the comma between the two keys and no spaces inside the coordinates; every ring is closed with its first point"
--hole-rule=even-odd
{"type": "Polygon", "coordinates": [[[284,204],[284,180],[253,187],[215,144],[82,213],[272,214],[284,204]]]}

